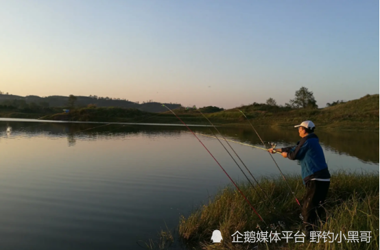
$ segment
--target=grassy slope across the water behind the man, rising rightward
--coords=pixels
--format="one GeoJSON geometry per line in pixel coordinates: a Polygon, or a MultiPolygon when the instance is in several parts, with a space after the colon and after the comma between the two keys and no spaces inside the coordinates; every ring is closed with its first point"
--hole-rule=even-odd
{"type": "MultiPolygon", "coordinates": [[[[379,130],[379,95],[366,95],[360,99],[322,109],[290,109],[262,104],[239,108],[254,125],[289,127],[300,121],[311,120],[318,129],[379,130]]],[[[238,110],[209,114],[211,120],[224,119],[224,124],[242,124],[246,121],[238,110]]]]}

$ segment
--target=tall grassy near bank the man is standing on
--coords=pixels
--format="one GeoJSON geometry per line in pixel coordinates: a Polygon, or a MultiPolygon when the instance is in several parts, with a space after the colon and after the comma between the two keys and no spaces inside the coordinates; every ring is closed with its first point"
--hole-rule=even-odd
{"type": "MultiPolygon", "coordinates": [[[[300,176],[287,176],[290,186],[296,197],[302,203],[305,188],[300,181],[300,176]]],[[[276,205],[276,210],[271,212],[265,208],[263,201],[257,193],[246,183],[239,184],[241,190],[263,217],[265,222],[276,225],[276,231],[292,231],[296,233],[300,227],[300,208],[294,197],[289,193],[285,182],[280,178],[264,178],[261,186],[268,192],[270,199],[276,205]],[[278,225],[278,221],[285,223],[285,228],[278,225]]],[[[269,204],[268,204],[269,205],[269,204]]],[[[259,243],[257,249],[379,249],[379,174],[355,174],[338,172],[331,177],[331,186],[327,201],[326,223],[320,231],[339,233],[348,236],[348,231],[370,231],[372,238],[370,243],[346,242],[342,243],[259,243]],[[268,247],[268,248],[267,248],[268,247]]],[[[239,192],[231,186],[220,190],[208,203],[187,218],[180,218],[179,237],[180,241],[189,246],[189,249],[253,249],[255,243],[232,243],[232,234],[239,231],[257,232],[260,225],[263,231],[270,232],[252,212],[246,201],[239,192]],[[211,243],[213,230],[222,232],[221,243],[211,243]]],[[[244,240],[244,238],[243,238],[244,240]]]]}

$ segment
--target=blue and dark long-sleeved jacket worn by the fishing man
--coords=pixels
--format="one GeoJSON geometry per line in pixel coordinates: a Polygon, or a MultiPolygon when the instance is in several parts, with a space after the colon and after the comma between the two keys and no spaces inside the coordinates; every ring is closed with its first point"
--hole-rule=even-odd
{"type": "Polygon", "coordinates": [[[324,153],[316,134],[309,134],[297,142],[296,146],[282,150],[287,152],[287,158],[300,162],[303,184],[313,178],[330,178],[324,153]]]}

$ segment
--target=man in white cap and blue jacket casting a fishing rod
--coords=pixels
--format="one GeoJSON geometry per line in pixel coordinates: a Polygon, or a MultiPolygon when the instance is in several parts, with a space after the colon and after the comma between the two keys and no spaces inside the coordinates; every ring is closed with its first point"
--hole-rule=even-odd
{"type": "Polygon", "coordinates": [[[322,216],[322,204],[326,199],[330,186],[330,173],[318,136],[314,134],[316,126],[312,121],[304,121],[298,127],[302,138],[294,147],[269,149],[270,153],[280,152],[284,158],[298,160],[301,165],[303,184],[306,193],[302,206],[302,217],[307,236],[317,225],[318,217],[322,216]]]}

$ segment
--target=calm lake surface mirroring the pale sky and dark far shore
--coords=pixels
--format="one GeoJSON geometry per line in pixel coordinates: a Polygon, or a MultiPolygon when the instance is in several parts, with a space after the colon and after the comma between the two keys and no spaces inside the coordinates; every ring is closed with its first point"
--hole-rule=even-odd
{"type": "MultiPolygon", "coordinates": [[[[136,242],[176,228],[180,214],[229,184],[185,127],[95,126],[0,119],[0,249],[143,249],[136,242]]],[[[261,146],[248,127],[220,130],[261,146]]],[[[299,140],[296,129],[257,130],[277,147],[299,140]]],[[[379,133],[316,134],[331,170],[379,173],[379,133]]],[[[200,139],[231,177],[244,179],[217,140],[200,139]]],[[[265,151],[232,145],[255,177],[279,175],[265,151]]],[[[300,173],[297,162],[274,158],[284,173],[300,173]]]]}

